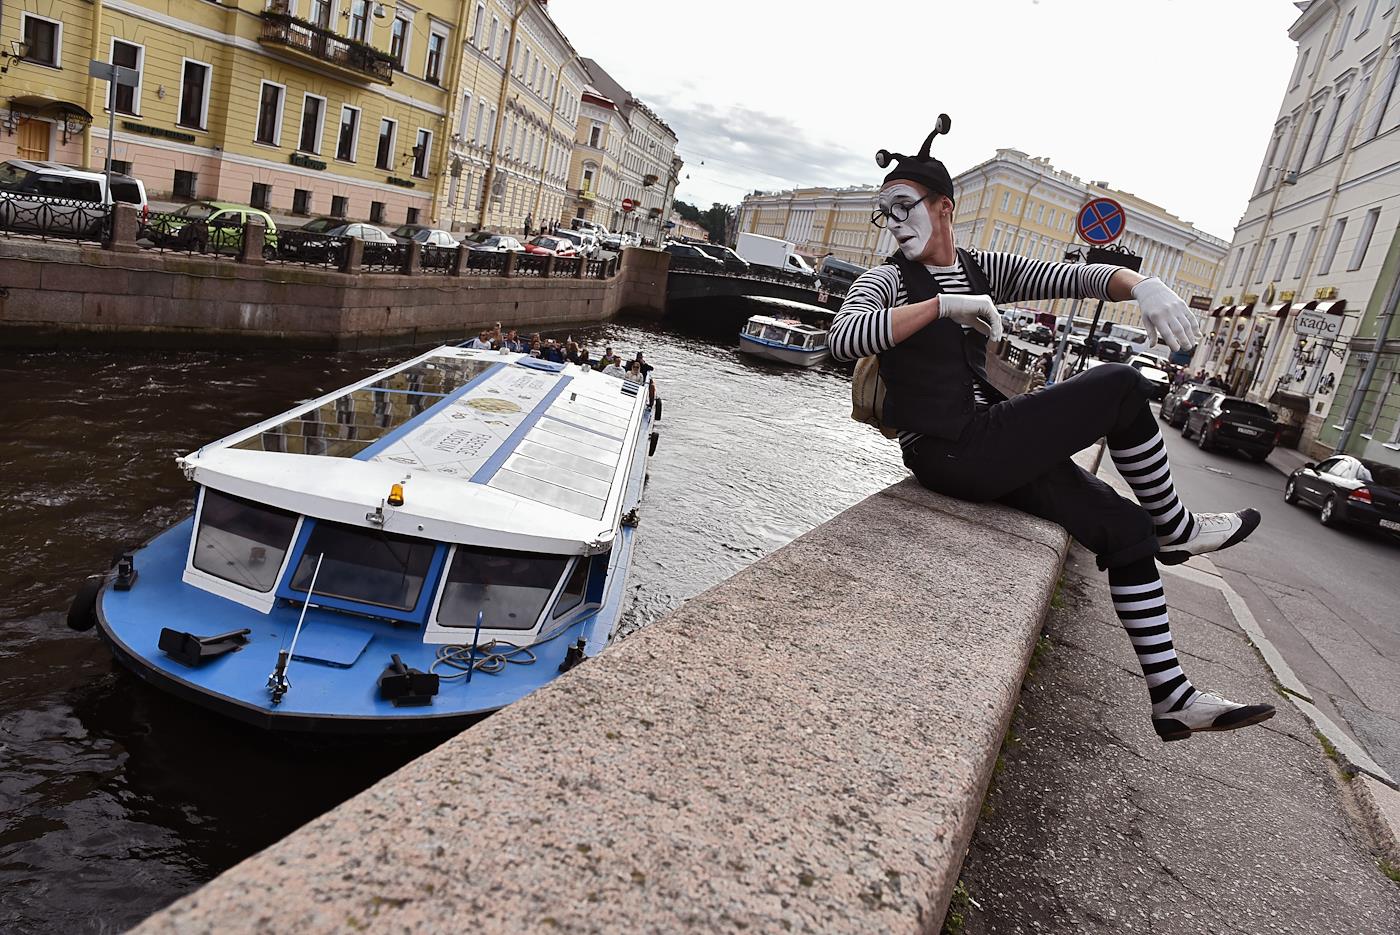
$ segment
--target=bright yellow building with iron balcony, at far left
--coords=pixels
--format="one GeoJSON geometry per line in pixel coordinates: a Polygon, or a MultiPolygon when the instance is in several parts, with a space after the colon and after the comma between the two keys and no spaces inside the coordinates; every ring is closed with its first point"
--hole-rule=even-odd
{"type": "Polygon", "coordinates": [[[11,0],[0,48],[0,158],[101,168],[106,83],[113,165],[153,199],[273,213],[431,221],[448,136],[445,87],[462,0],[11,0]]]}

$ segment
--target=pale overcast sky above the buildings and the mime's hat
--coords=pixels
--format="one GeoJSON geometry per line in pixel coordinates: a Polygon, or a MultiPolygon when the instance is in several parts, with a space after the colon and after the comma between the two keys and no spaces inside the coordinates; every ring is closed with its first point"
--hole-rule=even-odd
{"type": "MultiPolygon", "coordinates": [[[[1044,155],[1231,239],[1294,67],[1287,0],[550,0],[680,137],[678,197],[867,185],[875,150],[958,175],[1044,155]],[[703,162],[703,165],[701,165],[703,162]]],[[[1130,218],[1131,228],[1131,218],[1130,218]]]]}

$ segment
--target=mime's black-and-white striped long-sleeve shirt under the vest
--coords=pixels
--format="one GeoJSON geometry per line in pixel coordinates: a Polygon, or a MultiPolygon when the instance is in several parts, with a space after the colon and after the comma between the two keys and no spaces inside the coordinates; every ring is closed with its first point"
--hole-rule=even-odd
{"type": "MultiPolygon", "coordinates": [[[[1015,253],[983,253],[969,251],[977,260],[991,287],[991,301],[998,305],[1029,302],[1040,298],[1102,298],[1109,300],[1109,279],[1120,267],[1105,263],[1047,263],[1015,253]]],[[[944,293],[966,295],[972,293],[967,273],[959,258],[952,266],[930,266],[944,293]]],[[[869,357],[895,346],[890,311],[909,304],[904,277],[892,263],[875,266],[851,284],[841,311],[832,321],[826,343],[836,360],[869,357]]],[[[902,431],[899,444],[909,448],[918,441],[918,433],[902,431]]]]}

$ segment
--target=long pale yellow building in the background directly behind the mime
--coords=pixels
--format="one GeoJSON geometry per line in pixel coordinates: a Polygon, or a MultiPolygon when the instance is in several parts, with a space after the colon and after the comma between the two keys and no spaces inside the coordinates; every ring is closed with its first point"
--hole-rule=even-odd
{"type": "MultiPolygon", "coordinates": [[[[1117,245],[1142,258],[1145,276],[1159,277],[1187,301],[1214,294],[1225,241],[1106,182],[1085,182],[1056,169],[1046,158],[997,150],[991,160],[959,174],[953,188],[958,192],[953,237],[960,246],[1063,260],[1070,251],[1088,249],[1075,232],[1079,209],[1089,199],[1112,197],[1127,214],[1127,230],[1117,245]]],[[[871,224],[878,192],[875,186],[756,192],[739,206],[736,230],[791,241],[811,259],[833,253],[874,266],[895,249],[889,234],[871,224]]],[[[1068,304],[1028,302],[1028,307],[1063,314],[1068,304]]],[[[1133,302],[1106,304],[1103,318],[1141,325],[1133,302]]]]}

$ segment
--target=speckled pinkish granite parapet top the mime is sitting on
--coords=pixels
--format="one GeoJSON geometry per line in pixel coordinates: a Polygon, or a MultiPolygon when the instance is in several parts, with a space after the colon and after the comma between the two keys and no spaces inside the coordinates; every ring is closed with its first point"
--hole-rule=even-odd
{"type": "Polygon", "coordinates": [[[137,931],[937,931],[1065,546],[895,484],[137,931]]]}

